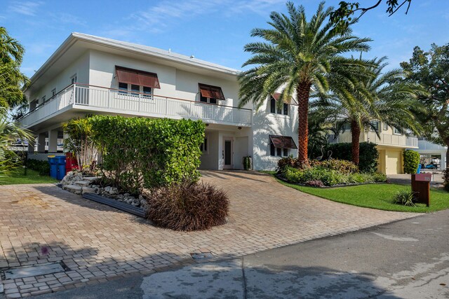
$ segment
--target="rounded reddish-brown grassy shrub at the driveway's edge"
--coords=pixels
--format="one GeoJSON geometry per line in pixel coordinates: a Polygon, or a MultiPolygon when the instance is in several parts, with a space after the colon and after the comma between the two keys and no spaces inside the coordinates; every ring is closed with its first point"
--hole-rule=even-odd
{"type": "Polygon", "coordinates": [[[173,184],[144,193],[147,216],[155,225],[172,230],[206,230],[226,223],[229,199],[207,183],[173,184]]]}

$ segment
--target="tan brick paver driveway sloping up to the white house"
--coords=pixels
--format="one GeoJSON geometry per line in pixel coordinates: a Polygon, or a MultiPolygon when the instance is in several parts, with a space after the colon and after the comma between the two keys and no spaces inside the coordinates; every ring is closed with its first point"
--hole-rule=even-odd
{"type": "Polygon", "coordinates": [[[189,233],[155,228],[52,184],[0,186],[0,268],[60,261],[69,268],[4,279],[7,297],[194,263],[192,252],[235,257],[416,216],[323,200],[283,186],[267,174],[202,174],[203,181],[227,191],[229,223],[189,233]]]}

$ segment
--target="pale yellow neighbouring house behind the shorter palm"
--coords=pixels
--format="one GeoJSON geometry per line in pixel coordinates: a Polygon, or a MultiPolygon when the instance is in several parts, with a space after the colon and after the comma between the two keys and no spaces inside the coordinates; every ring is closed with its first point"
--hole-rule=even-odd
{"type": "MultiPolygon", "coordinates": [[[[402,174],[403,173],[403,151],[406,148],[418,148],[418,139],[416,137],[408,137],[401,134],[396,128],[381,122],[373,122],[380,133],[377,137],[374,130],[362,131],[360,136],[361,142],[373,142],[377,144],[376,148],[379,152],[379,160],[377,161],[377,169],[384,174],[402,174]]],[[[335,135],[329,135],[330,143],[351,142],[351,132],[349,127],[344,132],[335,135]]]]}

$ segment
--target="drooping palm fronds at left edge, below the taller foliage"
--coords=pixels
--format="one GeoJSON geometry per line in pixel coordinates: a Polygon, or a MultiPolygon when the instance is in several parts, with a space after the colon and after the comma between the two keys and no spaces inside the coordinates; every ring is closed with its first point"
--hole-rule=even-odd
{"type": "Polygon", "coordinates": [[[18,124],[11,122],[3,113],[0,113],[0,179],[1,176],[6,176],[12,169],[19,166],[17,161],[20,159],[11,151],[11,144],[18,140],[32,140],[32,138],[31,132],[21,129],[18,124]]]}

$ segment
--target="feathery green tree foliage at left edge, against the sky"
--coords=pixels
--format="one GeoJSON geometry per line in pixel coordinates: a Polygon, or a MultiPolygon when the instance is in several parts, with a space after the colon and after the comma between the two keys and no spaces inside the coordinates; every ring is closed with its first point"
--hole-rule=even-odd
{"type": "MultiPolygon", "coordinates": [[[[24,52],[22,45],[8,35],[6,28],[0,27],[0,107],[8,109],[26,102],[22,88],[28,79],[20,72],[24,52]]],[[[6,113],[6,110],[0,112],[6,113]]]]}

